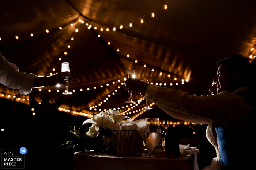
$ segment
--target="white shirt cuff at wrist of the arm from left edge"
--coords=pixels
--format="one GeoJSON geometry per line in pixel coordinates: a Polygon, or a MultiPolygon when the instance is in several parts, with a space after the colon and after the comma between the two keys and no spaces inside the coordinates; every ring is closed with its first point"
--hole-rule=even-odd
{"type": "Polygon", "coordinates": [[[31,93],[36,75],[30,73],[23,79],[19,92],[23,95],[31,93]]]}

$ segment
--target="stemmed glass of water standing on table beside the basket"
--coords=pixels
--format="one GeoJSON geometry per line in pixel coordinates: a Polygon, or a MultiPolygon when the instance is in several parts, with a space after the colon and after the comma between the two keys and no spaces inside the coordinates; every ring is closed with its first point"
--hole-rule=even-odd
{"type": "Polygon", "coordinates": [[[146,158],[155,158],[154,148],[158,145],[161,138],[159,118],[146,118],[145,121],[145,143],[151,149],[151,155],[146,158]]]}

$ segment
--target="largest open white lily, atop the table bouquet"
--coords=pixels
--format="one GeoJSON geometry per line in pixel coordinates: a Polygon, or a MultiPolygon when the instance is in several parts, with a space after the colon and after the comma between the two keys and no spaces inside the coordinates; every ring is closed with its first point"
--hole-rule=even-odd
{"type": "Polygon", "coordinates": [[[114,122],[112,122],[109,115],[105,112],[100,112],[99,114],[91,117],[91,119],[85,120],[83,122],[83,125],[86,123],[92,123],[92,124],[96,124],[98,126],[108,127],[109,129],[112,129],[112,130],[118,129],[116,124],[114,122]]]}

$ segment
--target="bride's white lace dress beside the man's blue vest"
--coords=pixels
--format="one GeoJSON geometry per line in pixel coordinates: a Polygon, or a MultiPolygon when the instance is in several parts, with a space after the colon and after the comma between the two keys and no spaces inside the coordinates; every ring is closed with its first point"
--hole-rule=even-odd
{"type": "Polygon", "coordinates": [[[206,129],[206,138],[208,141],[214,146],[216,150],[217,157],[212,159],[211,165],[206,166],[202,170],[221,170],[221,162],[220,162],[220,156],[219,156],[219,141],[217,137],[217,142],[215,141],[215,138],[213,136],[212,132],[212,121],[209,122],[207,129],[206,129]]]}

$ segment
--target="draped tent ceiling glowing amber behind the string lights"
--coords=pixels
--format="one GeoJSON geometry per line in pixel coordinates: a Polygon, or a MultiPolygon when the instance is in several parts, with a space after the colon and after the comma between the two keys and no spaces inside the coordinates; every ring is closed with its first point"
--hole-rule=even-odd
{"type": "MultiPolygon", "coordinates": [[[[161,5],[165,3],[163,0],[1,2],[0,52],[20,71],[36,75],[49,75],[53,68],[60,72],[61,62],[69,62],[74,78],[69,89],[76,92],[63,96],[63,104],[83,112],[92,113],[89,108],[109,94],[109,100],[98,108],[125,106],[128,94],[121,82],[128,69],[136,70],[140,79],[167,83],[167,87],[173,83],[172,88],[207,95],[218,60],[235,53],[251,54],[256,37],[256,2],[173,0],[163,10],[161,5]],[[151,11],[154,18],[150,17],[151,11]],[[142,17],[144,23],[139,22],[142,17]],[[131,22],[133,25],[129,27],[131,22]],[[70,26],[71,23],[74,25],[70,26]],[[87,29],[85,23],[92,28],[87,29]],[[119,29],[120,25],[123,29],[119,29]],[[76,33],[75,29],[79,31],[76,33]],[[15,39],[16,35],[19,39],[15,39]],[[182,85],[181,80],[187,78],[189,82],[182,85]],[[106,86],[107,83],[110,85],[106,86]],[[112,95],[116,89],[118,92],[112,95]]],[[[44,89],[56,91],[57,87],[44,89]]],[[[133,94],[133,98],[138,100],[140,96],[133,94]]]]}

